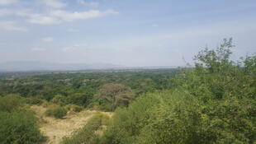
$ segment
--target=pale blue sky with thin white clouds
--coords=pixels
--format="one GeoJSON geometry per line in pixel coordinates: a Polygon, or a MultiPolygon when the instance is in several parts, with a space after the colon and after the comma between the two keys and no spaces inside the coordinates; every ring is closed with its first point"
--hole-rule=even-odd
{"type": "Polygon", "coordinates": [[[230,37],[256,52],[255,0],[0,0],[0,63],[183,66],[230,37]]]}

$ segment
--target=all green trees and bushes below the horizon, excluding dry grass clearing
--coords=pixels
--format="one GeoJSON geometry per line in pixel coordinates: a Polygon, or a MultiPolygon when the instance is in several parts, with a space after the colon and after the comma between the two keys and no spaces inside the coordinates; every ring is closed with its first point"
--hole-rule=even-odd
{"type": "Polygon", "coordinates": [[[203,49],[194,67],[48,72],[0,77],[0,143],[45,143],[40,118],[97,113],[64,144],[256,142],[256,56],[230,60],[232,39],[203,49]]]}

